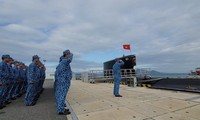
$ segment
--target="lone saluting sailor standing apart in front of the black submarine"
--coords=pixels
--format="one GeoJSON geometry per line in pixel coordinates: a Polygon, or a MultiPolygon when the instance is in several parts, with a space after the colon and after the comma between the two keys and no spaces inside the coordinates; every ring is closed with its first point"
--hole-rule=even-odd
{"type": "Polygon", "coordinates": [[[121,82],[121,66],[124,65],[124,62],[120,59],[116,59],[115,64],[113,65],[113,74],[114,74],[114,91],[113,94],[115,97],[122,97],[119,94],[119,87],[121,82]]]}

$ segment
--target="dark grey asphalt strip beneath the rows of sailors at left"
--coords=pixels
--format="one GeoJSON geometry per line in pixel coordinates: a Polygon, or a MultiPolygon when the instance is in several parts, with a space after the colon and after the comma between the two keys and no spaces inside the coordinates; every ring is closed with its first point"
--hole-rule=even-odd
{"type": "Polygon", "coordinates": [[[66,120],[56,113],[53,81],[46,80],[44,88],[35,106],[25,106],[23,95],[0,110],[0,120],[66,120]]]}

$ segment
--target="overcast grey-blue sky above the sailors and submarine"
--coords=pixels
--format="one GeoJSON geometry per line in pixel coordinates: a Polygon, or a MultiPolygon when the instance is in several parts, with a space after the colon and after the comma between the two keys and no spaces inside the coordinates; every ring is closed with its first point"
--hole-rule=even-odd
{"type": "Polygon", "coordinates": [[[29,64],[38,54],[54,71],[70,49],[84,71],[130,54],[128,43],[137,68],[200,67],[200,0],[0,0],[0,55],[29,64]]]}

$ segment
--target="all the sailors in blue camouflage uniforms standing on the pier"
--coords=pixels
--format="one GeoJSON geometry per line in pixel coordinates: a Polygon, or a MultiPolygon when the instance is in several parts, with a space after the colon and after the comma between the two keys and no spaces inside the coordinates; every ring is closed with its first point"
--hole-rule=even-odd
{"type": "MultiPolygon", "coordinates": [[[[56,67],[54,90],[56,108],[59,115],[71,113],[66,108],[65,100],[71,85],[72,70],[70,63],[72,59],[73,54],[70,50],[65,50],[56,67]]],[[[115,83],[113,94],[115,97],[122,97],[119,94],[120,68],[122,65],[124,65],[124,62],[120,59],[116,59],[113,65],[115,83]]],[[[44,89],[45,70],[46,68],[38,55],[32,57],[32,63],[29,66],[14,60],[10,55],[2,55],[2,62],[0,63],[0,109],[23,94],[25,94],[26,106],[35,105],[44,89]]]]}

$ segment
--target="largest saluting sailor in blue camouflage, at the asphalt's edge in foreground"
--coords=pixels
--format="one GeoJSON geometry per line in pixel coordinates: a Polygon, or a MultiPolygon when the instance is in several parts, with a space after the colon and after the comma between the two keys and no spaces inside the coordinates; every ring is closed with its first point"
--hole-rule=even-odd
{"type": "Polygon", "coordinates": [[[70,50],[65,50],[56,69],[55,98],[59,115],[67,115],[71,113],[69,109],[65,109],[65,99],[72,79],[72,71],[70,67],[72,59],[73,54],[70,50]]]}

